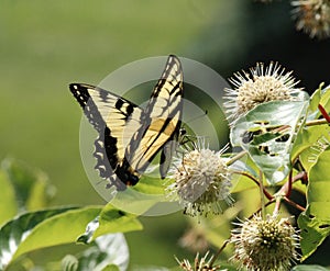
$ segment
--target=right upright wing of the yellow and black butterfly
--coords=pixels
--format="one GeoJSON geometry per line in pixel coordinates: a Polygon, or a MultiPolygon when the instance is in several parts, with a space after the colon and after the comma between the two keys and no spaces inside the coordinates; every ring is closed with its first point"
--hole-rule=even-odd
{"type": "MultiPolygon", "coordinates": [[[[136,171],[143,172],[165,144],[175,139],[180,126],[182,98],[182,65],[177,57],[169,56],[145,109],[143,124],[127,149],[125,156],[136,171]]],[[[160,170],[163,178],[167,170],[162,167],[160,170]]]]}

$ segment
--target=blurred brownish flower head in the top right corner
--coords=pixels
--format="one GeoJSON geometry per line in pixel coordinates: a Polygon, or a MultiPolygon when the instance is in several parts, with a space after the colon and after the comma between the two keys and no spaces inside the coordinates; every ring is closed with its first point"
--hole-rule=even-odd
{"type": "Polygon", "coordinates": [[[293,16],[296,27],[310,37],[326,38],[330,36],[330,0],[292,1],[293,16]]]}

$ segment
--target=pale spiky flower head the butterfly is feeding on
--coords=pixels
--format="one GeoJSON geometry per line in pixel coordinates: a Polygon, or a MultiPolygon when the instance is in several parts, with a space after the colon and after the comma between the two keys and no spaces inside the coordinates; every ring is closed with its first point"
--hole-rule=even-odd
{"type": "Polygon", "coordinates": [[[221,158],[227,147],[215,151],[205,146],[205,139],[198,138],[194,149],[184,153],[182,159],[175,160],[170,171],[174,183],[166,188],[168,197],[178,201],[185,214],[191,216],[219,214],[219,201],[232,203],[230,196],[231,173],[221,158]]]}

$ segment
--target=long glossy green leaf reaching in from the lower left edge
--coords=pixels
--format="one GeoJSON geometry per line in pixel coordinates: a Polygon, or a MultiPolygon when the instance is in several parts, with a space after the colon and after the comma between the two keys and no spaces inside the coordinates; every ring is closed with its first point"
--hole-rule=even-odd
{"type": "Polygon", "coordinates": [[[19,256],[74,242],[100,207],[61,207],[25,213],[0,228],[0,270],[19,256]]]}

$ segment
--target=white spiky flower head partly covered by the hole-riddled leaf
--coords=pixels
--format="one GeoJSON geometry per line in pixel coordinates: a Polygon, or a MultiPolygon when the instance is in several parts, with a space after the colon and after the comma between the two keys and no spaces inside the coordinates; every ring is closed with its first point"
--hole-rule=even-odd
{"type": "Polygon", "coordinates": [[[261,103],[299,100],[298,94],[301,90],[296,88],[299,81],[295,80],[292,71],[286,72],[285,68],[273,61],[267,67],[257,63],[250,72],[237,72],[229,81],[234,88],[224,89],[224,106],[232,123],[261,103]]]}

